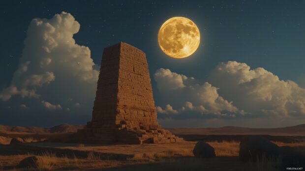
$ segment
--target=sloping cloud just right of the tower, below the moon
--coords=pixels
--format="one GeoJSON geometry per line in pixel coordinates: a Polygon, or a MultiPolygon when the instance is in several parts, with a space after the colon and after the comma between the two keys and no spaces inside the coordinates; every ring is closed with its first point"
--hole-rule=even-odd
{"type": "Polygon", "coordinates": [[[162,68],[154,73],[154,79],[162,97],[171,102],[164,109],[157,106],[159,113],[177,114],[193,111],[217,116],[235,116],[228,113],[243,114],[243,111],[235,107],[232,102],[219,96],[217,88],[208,82],[200,84],[193,77],[162,68]],[[173,97],[178,100],[173,99],[173,97]],[[179,111],[174,110],[171,105],[175,105],[179,111]]]}

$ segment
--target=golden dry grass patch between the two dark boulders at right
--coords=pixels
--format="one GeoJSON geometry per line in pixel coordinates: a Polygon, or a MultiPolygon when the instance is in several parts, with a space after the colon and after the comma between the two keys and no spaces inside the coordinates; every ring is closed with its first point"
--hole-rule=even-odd
{"type": "Polygon", "coordinates": [[[237,141],[222,141],[222,142],[207,142],[215,149],[216,156],[238,156],[240,150],[240,142],[237,141]]]}

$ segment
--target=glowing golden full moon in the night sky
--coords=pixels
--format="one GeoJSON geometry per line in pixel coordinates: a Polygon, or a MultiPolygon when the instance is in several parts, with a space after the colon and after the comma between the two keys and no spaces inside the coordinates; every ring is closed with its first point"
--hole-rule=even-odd
{"type": "Polygon", "coordinates": [[[162,51],[173,58],[185,58],[193,54],[200,44],[197,25],[184,17],[173,17],[162,24],[158,33],[162,51]]]}

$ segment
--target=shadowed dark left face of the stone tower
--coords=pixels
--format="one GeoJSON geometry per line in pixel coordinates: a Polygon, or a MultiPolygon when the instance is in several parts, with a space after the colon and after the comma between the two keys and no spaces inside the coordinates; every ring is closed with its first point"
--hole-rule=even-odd
{"type": "Polygon", "coordinates": [[[93,127],[114,126],[118,103],[120,44],[104,49],[92,112],[93,127]]]}

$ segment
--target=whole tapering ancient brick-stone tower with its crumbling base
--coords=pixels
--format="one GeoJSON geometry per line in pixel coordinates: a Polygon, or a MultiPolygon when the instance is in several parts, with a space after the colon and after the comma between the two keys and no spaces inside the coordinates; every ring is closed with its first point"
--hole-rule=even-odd
{"type": "Polygon", "coordinates": [[[78,134],[87,143],[183,141],[157,122],[143,51],[123,42],[104,49],[92,121],[78,134]]]}

